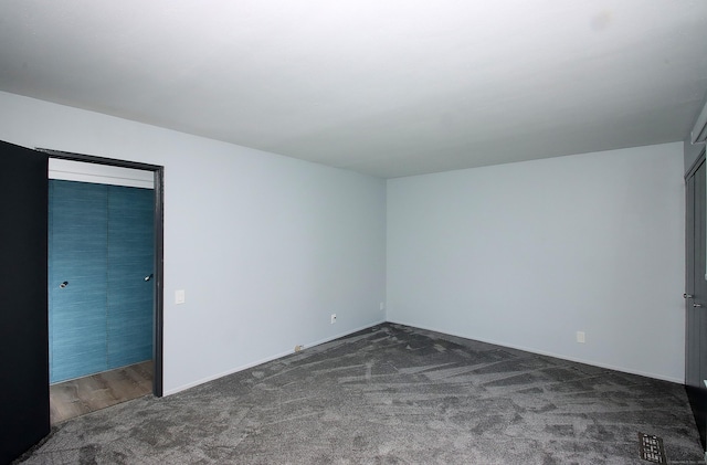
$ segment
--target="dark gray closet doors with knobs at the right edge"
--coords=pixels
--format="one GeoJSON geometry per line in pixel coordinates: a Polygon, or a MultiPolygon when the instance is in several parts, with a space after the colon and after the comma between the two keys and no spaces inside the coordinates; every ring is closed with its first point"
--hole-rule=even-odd
{"type": "Polygon", "coordinates": [[[703,448],[707,433],[707,168],[705,151],[685,177],[685,390],[703,448]]]}

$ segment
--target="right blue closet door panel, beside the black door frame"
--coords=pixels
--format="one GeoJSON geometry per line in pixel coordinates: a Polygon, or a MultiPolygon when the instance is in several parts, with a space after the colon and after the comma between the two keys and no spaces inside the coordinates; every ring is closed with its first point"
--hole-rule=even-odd
{"type": "Polygon", "coordinates": [[[152,358],[154,191],[108,187],[108,368],[152,358]]]}

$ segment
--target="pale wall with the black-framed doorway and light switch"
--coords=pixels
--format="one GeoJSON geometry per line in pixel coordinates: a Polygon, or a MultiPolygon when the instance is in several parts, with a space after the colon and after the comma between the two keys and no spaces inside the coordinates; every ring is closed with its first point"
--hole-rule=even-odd
{"type": "Polygon", "coordinates": [[[0,139],[165,166],[166,393],[384,319],[381,179],[8,93],[0,139]]]}

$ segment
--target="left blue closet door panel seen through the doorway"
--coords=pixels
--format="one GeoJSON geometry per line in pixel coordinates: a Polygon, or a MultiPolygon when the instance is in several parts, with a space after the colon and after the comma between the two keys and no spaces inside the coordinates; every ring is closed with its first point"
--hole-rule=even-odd
{"type": "Polygon", "coordinates": [[[105,186],[50,181],[52,383],[107,368],[106,204],[105,186]]]}

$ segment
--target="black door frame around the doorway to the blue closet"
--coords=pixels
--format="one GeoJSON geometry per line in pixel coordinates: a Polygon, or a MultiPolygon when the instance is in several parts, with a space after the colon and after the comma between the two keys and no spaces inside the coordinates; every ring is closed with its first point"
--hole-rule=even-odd
{"type": "Polygon", "coordinates": [[[119,160],[116,158],[96,157],[93,155],[73,154],[67,151],[60,151],[46,148],[38,148],[36,150],[43,151],[49,155],[50,158],[56,158],[62,160],[82,161],[94,165],[105,165],[118,168],[131,168],[144,171],[152,171],[155,180],[155,210],[154,210],[154,231],[155,231],[155,295],[154,295],[154,334],[152,334],[152,363],[154,363],[154,380],[152,380],[152,394],[157,398],[162,397],[163,383],[162,383],[162,340],[163,340],[163,274],[165,274],[165,213],[163,213],[163,198],[165,198],[165,167],[159,165],[149,165],[138,161],[119,160]]]}

